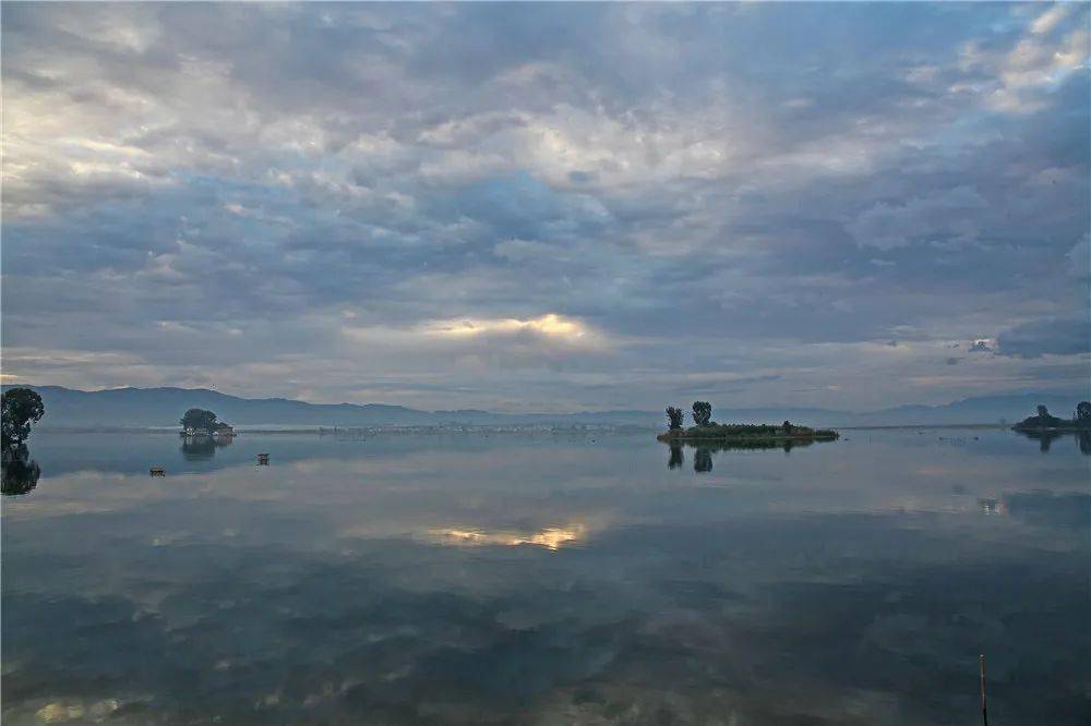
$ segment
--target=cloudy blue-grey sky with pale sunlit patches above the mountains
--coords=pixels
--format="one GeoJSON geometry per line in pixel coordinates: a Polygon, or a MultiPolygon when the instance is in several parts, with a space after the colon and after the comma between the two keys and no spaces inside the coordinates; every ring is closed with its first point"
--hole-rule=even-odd
{"type": "Polygon", "coordinates": [[[1091,386],[1088,4],[3,3],[3,382],[1091,386]]]}

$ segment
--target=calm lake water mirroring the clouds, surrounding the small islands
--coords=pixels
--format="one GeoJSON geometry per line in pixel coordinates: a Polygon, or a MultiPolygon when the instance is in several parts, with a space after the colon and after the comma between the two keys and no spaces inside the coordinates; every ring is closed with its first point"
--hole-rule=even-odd
{"type": "Polygon", "coordinates": [[[1091,723],[1091,457],[847,436],[39,432],[3,721],[1091,723]]]}

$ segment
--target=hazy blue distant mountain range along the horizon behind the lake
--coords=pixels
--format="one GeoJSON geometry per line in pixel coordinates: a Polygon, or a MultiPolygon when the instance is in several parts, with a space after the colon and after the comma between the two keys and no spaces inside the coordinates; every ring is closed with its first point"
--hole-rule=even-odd
{"type": "MultiPolygon", "coordinates": [[[[5,385],[3,389],[13,388],[5,385]]],[[[242,428],[261,426],[443,426],[443,425],[638,425],[661,428],[662,411],[584,411],[578,413],[493,413],[465,409],[421,411],[379,403],[308,403],[285,398],[239,398],[207,388],[112,388],[85,391],[62,386],[25,386],[41,396],[44,428],[177,426],[187,409],[215,411],[242,428]]],[[[1083,398],[1088,398],[1087,395],[1083,398]]],[[[1079,395],[1015,394],[980,396],[945,406],[900,406],[852,412],[817,408],[715,408],[720,422],[768,423],[790,420],[816,426],[1015,423],[1038,404],[1070,416],[1079,395]]]]}

